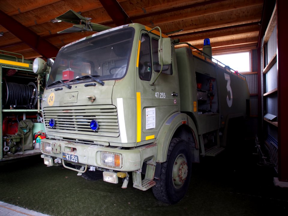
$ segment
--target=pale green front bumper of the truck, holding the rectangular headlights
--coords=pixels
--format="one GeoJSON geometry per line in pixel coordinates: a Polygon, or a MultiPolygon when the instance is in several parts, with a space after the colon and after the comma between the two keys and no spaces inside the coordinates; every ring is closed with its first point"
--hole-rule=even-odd
{"type": "MultiPolygon", "coordinates": [[[[81,143],[72,143],[60,140],[41,140],[41,152],[53,158],[63,159],[63,153],[76,155],[78,163],[93,167],[100,167],[104,169],[117,171],[136,171],[142,168],[142,164],[147,160],[156,160],[157,146],[155,144],[148,144],[145,146],[136,147],[135,149],[118,149],[114,147],[104,147],[99,145],[88,145],[81,143]],[[47,153],[44,144],[51,144],[51,153],[47,153]],[[115,168],[105,166],[101,163],[101,152],[113,152],[121,155],[121,167],[115,168]]],[[[48,151],[49,152],[49,151],[48,151]]],[[[67,161],[69,163],[69,161],[67,161]]]]}

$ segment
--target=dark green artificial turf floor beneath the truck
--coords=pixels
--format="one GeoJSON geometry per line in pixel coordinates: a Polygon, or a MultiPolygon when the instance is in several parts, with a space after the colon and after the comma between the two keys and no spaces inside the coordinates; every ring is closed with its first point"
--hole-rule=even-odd
{"type": "Polygon", "coordinates": [[[258,166],[259,157],[251,146],[247,149],[194,164],[187,194],[175,205],[155,199],[152,189],[134,188],[132,177],[122,189],[121,183],[89,181],[63,167],[46,167],[40,155],[0,162],[0,200],[55,216],[288,215],[288,188],[275,187],[274,168],[258,166]]]}

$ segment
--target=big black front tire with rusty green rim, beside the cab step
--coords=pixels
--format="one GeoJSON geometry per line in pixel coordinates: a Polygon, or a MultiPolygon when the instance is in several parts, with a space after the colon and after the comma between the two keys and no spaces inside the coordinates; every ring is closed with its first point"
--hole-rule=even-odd
{"type": "Polygon", "coordinates": [[[179,202],[185,195],[191,179],[192,158],[186,142],[173,138],[167,160],[161,164],[160,180],[152,187],[154,196],[170,204],[179,202]]]}

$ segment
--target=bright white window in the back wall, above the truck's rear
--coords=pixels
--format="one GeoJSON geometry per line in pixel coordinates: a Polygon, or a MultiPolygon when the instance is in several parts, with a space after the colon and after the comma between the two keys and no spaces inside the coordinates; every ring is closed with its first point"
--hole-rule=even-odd
{"type": "MultiPolygon", "coordinates": [[[[238,72],[250,72],[250,52],[213,55],[212,57],[238,72]]],[[[216,62],[214,59],[212,60],[216,62]]]]}

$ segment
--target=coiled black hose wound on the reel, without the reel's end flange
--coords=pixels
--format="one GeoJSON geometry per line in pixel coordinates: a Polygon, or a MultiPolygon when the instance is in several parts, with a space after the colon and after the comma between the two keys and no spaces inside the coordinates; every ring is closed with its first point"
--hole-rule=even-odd
{"type": "Polygon", "coordinates": [[[13,82],[4,82],[6,83],[6,88],[3,86],[4,91],[4,106],[27,106],[31,101],[33,94],[33,88],[29,85],[23,85],[13,82]]]}

